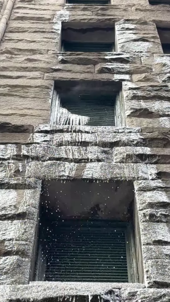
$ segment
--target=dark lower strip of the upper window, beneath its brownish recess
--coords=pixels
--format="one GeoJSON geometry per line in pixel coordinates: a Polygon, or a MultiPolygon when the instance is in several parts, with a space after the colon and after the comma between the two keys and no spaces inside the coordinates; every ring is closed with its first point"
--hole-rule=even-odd
{"type": "Polygon", "coordinates": [[[63,41],[64,51],[75,52],[111,52],[114,50],[114,43],[106,42],[66,42],[63,41]]]}

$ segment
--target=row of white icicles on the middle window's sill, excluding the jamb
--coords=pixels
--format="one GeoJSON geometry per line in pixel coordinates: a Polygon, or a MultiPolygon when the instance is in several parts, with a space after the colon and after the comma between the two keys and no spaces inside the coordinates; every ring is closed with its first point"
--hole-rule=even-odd
{"type": "Polygon", "coordinates": [[[66,108],[60,107],[57,114],[57,125],[86,125],[90,118],[69,112],[66,108]]]}

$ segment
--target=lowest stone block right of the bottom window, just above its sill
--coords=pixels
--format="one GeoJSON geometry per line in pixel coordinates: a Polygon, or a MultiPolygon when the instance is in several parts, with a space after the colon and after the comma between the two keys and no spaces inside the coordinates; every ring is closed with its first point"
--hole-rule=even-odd
{"type": "Polygon", "coordinates": [[[147,287],[170,287],[170,260],[144,260],[143,267],[147,287]]]}

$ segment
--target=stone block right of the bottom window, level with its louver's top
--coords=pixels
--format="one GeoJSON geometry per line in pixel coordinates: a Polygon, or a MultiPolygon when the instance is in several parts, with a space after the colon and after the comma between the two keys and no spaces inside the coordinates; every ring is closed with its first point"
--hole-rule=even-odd
{"type": "Polygon", "coordinates": [[[142,245],[170,245],[170,224],[142,222],[140,223],[142,245]]]}

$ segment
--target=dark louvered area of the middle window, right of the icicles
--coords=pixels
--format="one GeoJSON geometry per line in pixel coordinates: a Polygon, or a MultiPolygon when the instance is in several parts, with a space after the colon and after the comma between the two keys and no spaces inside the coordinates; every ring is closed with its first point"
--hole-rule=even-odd
{"type": "Polygon", "coordinates": [[[79,95],[72,99],[61,98],[61,107],[72,114],[87,116],[89,126],[115,126],[115,100],[110,97],[79,95]]]}

